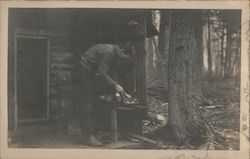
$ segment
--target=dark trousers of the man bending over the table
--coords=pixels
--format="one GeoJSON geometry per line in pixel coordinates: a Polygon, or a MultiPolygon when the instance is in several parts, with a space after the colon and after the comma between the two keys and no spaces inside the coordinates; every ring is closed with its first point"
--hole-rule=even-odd
{"type": "Polygon", "coordinates": [[[81,128],[85,135],[94,133],[93,103],[97,99],[97,77],[77,63],[72,73],[74,85],[75,108],[73,120],[80,120],[81,128]]]}

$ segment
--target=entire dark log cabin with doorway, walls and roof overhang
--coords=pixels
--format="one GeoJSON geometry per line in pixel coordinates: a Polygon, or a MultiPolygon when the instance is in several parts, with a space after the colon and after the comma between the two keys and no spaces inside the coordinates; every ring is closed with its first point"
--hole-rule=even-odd
{"type": "MultiPolygon", "coordinates": [[[[10,131],[16,131],[19,123],[59,120],[67,116],[73,104],[74,59],[96,43],[133,43],[134,63],[125,70],[123,83],[145,106],[145,39],[157,34],[151,10],[12,8],[8,26],[10,131]]],[[[113,125],[117,125],[116,113],[111,115],[113,125]]],[[[126,113],[120,114],[118,119],[123,122],[120,125],[127,124],[129,129],[141,132],[142,119],[137,113],[130,114],[129,119],[126,113]]],[[[117,127],[113,130],[117,131],[117,127]]]]}

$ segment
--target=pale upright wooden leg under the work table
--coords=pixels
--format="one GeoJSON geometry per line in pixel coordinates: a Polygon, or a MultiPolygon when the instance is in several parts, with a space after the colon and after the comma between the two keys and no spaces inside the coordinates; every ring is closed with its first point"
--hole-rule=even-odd
{"type": "Polygon", "coordinates": [[[111,137],[113,141],[118,141],[118,130],[117,130],[117,110],[111,109],[111,137]]]}

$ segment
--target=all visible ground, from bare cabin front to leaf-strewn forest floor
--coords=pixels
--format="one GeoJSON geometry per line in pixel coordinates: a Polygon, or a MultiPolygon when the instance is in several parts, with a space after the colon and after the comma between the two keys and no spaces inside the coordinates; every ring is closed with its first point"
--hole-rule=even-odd
{"type": "MultiPolygon", "coordinates": [[[[149,96],[149,110],[157,112],[168,118],[168,103],[162,100],[162,89],[151,88],[149,96]],[[153,90],[153,94],[152,94],[153,90]]],[[[239,149],[239,125],[240,125],[240,90],[225,80],[210,80],[203,82],[204,103],[200,106],[209,122],[215,126],[217,132],[225,137],[226,145],[221,149],[239,149]]],[[[178,145],[165,125],[159,125],[149,121],[143,121],[144,135],[159,141],[165,149],[186,149],[178,145]]],[[[81,136],[68,136],[60,123],[41,122],[20,125],[18,132],[9,133],[9,147],[31,148],[91,148],[84,144],[81,136]]],[[[105,135],[101,135],[105,138],[105,135]]],[[[108,134],[106,134],[106,137],[108,134]]],[[[126,140],[126,139],[125,139],[126,140]]],[[[105,141],[105,140],[104,140],[105,141]]],[[[140,142],[130,140],[130,142],[140,142]]],[[[108,141],[107,141],[108,143],[108,141]]],[[[139,144],[128,148],[163,148],[154,145],[139,144]]],[[[101,148],[109,148],[107,146],[101,148]]]]}

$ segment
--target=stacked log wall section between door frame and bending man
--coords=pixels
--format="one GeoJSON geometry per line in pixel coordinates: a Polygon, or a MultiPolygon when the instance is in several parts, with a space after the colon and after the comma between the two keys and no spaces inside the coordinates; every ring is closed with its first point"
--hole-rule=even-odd
{"type": "Polygon", "coordinates": [[[68,37],[69,35],[65,34],[50,37],[50,119],[63,117],[65,109],[73,104],[69,95],[72,95],[71,72],[74,54],[68,37]]]}

